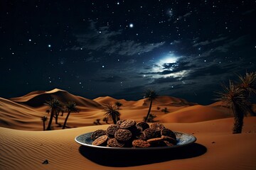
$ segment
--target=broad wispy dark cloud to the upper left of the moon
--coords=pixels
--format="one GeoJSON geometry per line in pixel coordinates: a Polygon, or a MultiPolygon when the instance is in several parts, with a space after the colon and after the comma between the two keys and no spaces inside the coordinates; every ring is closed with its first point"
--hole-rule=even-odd
{"type": "Polygon", "coordinates": [[[96,28],[95,22],[90,21],[90,26],[85,33],[75,35],[79,45],[70,50],[102,50],[108,54],[136,55],[150,52],[165,42],[141,43],[134,40],[117,40],[122,35],[122,30],[111,31],[108,26],[96,28]]]}

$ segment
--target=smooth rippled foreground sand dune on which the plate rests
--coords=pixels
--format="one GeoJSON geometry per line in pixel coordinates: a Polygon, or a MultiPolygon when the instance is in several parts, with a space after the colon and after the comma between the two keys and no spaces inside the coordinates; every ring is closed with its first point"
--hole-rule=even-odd
{"type": "Polygon", "coordinates": [[[74,138],[107,125],[33,132],[0,128],[0,167],[14,169],[256,169],[255,117],[245,118],[244,132],[233,135],[233,118],[201,123],[165,123],[193,133],[193,145],[154,152],[114,152],[78,145],[74,138]],[[110,157],[111,156],[111,157],[110,157]],[[129,157],[129,158],[128,158],[129,157]],[[42,164],[45,160],[48,164],[42,164]]]}

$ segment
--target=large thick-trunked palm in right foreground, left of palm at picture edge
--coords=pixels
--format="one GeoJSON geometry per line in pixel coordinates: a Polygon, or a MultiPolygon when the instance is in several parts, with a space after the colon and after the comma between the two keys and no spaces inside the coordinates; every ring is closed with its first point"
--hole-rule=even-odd
{"type": "Polygon", "coordinates": [[[245,89],[236,86],[232,81],[229,81],[229,86],[223,86],[224,93],[218,93],[218,101],[223,101],[230,108],[233,113],[235,122],[233,126],[233,133],[241,133],[243,118],[247,115],[249,102],[245,95],[245,89]]]}

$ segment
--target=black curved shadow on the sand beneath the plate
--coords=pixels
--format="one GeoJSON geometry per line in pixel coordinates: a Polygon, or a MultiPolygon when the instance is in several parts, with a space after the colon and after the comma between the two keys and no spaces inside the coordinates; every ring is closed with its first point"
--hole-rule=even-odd
{"type": "Polygon", "coordinates": [[[188,146],[159,149],[159,150],[110,150],[80,146],[79,152],[96,164],[103,166],[125,167],[139,166],[171,161],[174,159],[188,159],[206,153],[207,148],[198,143],[188,146]]]}

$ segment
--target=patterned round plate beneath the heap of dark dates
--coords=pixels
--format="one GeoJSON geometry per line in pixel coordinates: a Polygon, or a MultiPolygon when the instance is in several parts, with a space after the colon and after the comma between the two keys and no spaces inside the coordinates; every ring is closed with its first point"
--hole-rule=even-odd
{"type": "Polygon", "coordinates": [[[101,149],[119,149],[119,150],[141,150],[141,149],[171,149],[176,147],[183,147],[186,145],[190,145],[193,142],[196,142],[196,137],[193,135],[184,133],[184,132],[174,132],[177,138],[177,144],[172,147],[142,147],[142,148],[132,148],[132,147],[100,147],[92,145],[93,140],[91,139],[92,132],[87,132],[82,135],[78,135],[75,137],[75,142],[78,142],[80,145],[84,145],[85,147],[94,147],[101,149]]]}

